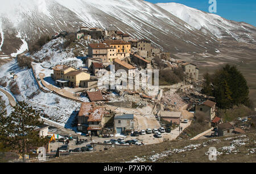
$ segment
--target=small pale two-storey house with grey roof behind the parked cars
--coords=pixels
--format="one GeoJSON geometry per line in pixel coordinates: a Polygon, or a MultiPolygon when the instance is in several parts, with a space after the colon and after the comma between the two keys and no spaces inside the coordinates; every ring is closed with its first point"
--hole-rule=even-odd
{"type": "Polygon", "coordinates": [[[134,115],[123,114],[114,117],[115,134],[129,135],[134,131],[134,115]]]}

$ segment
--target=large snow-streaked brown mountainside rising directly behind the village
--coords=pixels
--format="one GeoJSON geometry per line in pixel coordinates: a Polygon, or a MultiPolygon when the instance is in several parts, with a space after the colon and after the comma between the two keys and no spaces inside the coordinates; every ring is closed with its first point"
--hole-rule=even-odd
{"type": "Polygon", "coordinates": [[[214,36],[142,0],[1,1],[0,21],[1,49],[7,55],[20,45],[26,48],[24,40],[30,43],[40,35],[77,31],[80,26],[121,30],[171,52],[204,52],[218,46],[214,36]]]}

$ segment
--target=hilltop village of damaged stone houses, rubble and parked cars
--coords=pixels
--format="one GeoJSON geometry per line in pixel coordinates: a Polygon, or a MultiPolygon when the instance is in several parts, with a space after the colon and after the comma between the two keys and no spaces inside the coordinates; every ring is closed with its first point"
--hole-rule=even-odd
{"type": "MultiPolygon", "coordinates": [[[[25,55],[28,56],[23,53],[18,57],[25,55]]],[[[104,151],[174,139],[245,134],[250,125],[250,118],[239,118],[240,124],[222,119],[214,97],[201,94],[203,80],[197,65],[173,59],[146,38],[80,27],[76,33],[56,33],[30,56],[32,76],[39,89],[78,106],[65,119],[65,126],[59,123],[61,115],[51,118],[42,110],[44,117],[40,119],[44,125],[38,130],[39,136],[49,138],[45,146],[49,156],[56,152],[104,151]],[[115,76],[111,78],[113,69],[115,76]],[[135,78],[138,72],[152,74],[144,81],[143,73],[135,78]],[[132,77],[135,86],[118,88],[127,86],[128,77],[132,77]],[[106,83],[107,88],[101,88],[100,81],[114,81],[114,85],[106,83]],[[203,123],[191,132],[190,127],[195,127],[198,118],[203,123]]],[[[12,72],[10,78],[21,77],[12,72]]],[[[69,109],[69,104],[59,98],[47,100],[65,111],[69,109]]]]}

